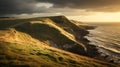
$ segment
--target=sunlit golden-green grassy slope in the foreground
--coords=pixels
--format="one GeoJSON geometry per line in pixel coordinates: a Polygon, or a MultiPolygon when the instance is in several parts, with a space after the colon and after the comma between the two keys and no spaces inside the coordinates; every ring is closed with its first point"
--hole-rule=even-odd
{"type": "Polygon", "coordinates": [[[0,67],[117,67],[48,46],[15,29],[0,30],[0,67]]]}

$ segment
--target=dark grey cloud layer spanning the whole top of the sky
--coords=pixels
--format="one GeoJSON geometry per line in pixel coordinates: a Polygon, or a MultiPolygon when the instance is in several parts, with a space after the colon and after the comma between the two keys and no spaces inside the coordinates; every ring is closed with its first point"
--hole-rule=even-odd
{"type": "Polygon", "coordinates": [[[120,11],[120,0],[0,0],[0,15],[65,11],[63,8],[91,11],[120,11]],[[37,3],[53,4],[52,8],[37,3]],[[45,8],[46,7],[46,8],[45,8]]]}

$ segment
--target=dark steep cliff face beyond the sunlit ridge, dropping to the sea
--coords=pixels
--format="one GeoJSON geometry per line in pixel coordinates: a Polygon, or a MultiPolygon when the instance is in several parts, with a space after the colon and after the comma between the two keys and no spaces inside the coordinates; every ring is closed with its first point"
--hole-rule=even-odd
{"type": "MultiPolygon", "coordinates": [[[[86,25],[85,23],[83,24],[78,21],[71,21],[67,19],[65,16],[52,16],[47,18],[51,19],[60,28],[72,34],[77,42],[82,43],[86,48],[87,56],[94,58],[99,55],[96,47],[90,45],[89,41],[84,37],[87,34],[89,34],[87,29],[93,29],[95,28],[94,26],[89,26],[86,25]]],[[[79,48],[75,48],[75,49],[79,50],[79,48]]],[[[79,51],[76,51],[74,53],[79,54],[79,51]]]]}

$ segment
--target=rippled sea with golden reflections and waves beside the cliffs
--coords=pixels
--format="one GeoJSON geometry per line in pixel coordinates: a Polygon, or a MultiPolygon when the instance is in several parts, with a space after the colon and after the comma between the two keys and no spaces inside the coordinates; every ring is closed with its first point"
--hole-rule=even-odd
{"type": "Polygon", "coordinates": [[[86,38],[98,48],[100,56],[114,63],[120,63],[120,23],[93,23],[95,29],[88,30],[86,38]]]}

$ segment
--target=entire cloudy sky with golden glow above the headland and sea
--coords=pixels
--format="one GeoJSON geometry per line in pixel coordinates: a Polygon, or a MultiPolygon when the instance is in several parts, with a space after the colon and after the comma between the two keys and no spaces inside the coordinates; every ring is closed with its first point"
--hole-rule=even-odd
{"type": "Polygon", "coordinates": [[[0,16],[65,15],[83,22],[120,22],[120,0],[0,0],[0,16]]]}

